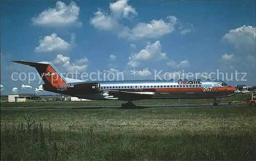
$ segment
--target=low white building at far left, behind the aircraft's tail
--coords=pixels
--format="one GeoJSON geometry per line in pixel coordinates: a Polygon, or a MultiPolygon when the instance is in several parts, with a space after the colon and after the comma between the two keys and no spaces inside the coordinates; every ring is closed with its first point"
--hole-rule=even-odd
{"type": "Polygon", "coordinates": [[[8,94],[8,102],[26,102],[39,100],[40,96],[32,94],[8,94]]]}

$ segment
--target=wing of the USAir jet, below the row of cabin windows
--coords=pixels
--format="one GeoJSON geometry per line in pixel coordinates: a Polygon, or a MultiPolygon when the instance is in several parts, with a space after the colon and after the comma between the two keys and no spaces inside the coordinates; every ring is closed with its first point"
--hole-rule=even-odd
{"type": "Polygon", "coordinates": [[[136,99],[149,99],[155,93],[154,92],[128,92],[128,91],[119,91],[119,90],[104,90],[104,93],[108,96],[113,96],[114,98],[122,98],[127,100],[136,100],[136,99]]]}

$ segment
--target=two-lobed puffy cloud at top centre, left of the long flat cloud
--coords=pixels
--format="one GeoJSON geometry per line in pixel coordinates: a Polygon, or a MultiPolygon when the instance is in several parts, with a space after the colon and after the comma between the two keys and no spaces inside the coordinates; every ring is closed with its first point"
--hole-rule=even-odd
{"type": "Polygon", "coordinates": [[[94,13],[94,17],[90,19],[90,23],[96,29],[110,31],[119,27],[119,20],[122,18],[131,18],[138,15],[135,8],[128,5],[128,0],[119,0],[115,3],[110,3],[111,14],[98,9],[94,13]]]}

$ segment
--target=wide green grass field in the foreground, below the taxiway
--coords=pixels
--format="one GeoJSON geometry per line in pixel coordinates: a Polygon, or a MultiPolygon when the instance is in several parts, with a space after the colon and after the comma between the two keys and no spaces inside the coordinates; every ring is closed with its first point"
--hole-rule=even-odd
{"type": "Polygon", "coordinates": [[[1,160],[255,160],[255,116],[247,105],[1,111],[1,160]]]}

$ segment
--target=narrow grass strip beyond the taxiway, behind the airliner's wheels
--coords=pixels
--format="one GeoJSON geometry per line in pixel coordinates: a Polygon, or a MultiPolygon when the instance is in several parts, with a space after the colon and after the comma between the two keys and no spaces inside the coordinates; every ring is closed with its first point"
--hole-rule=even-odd
{"type": "MultiPolygon", "coordinates": [[[[223,102],[238,100],[245,101],[249,98],[249,95],[235,95],[232,97],[226,97],[223,102]]],[[[163,105],[163,104],[205,104],[212,103],[213,99],[184,99],[184,100],[141,100],[134,101],[136,105],[163,105]]],[[[12,107],[63,107],[63,106],[107,106],[107,105],[118,105],[125,103],[125,101],[52,101],[52,102],[1,102],[1,108],[12,108],[12,107]]]]}

